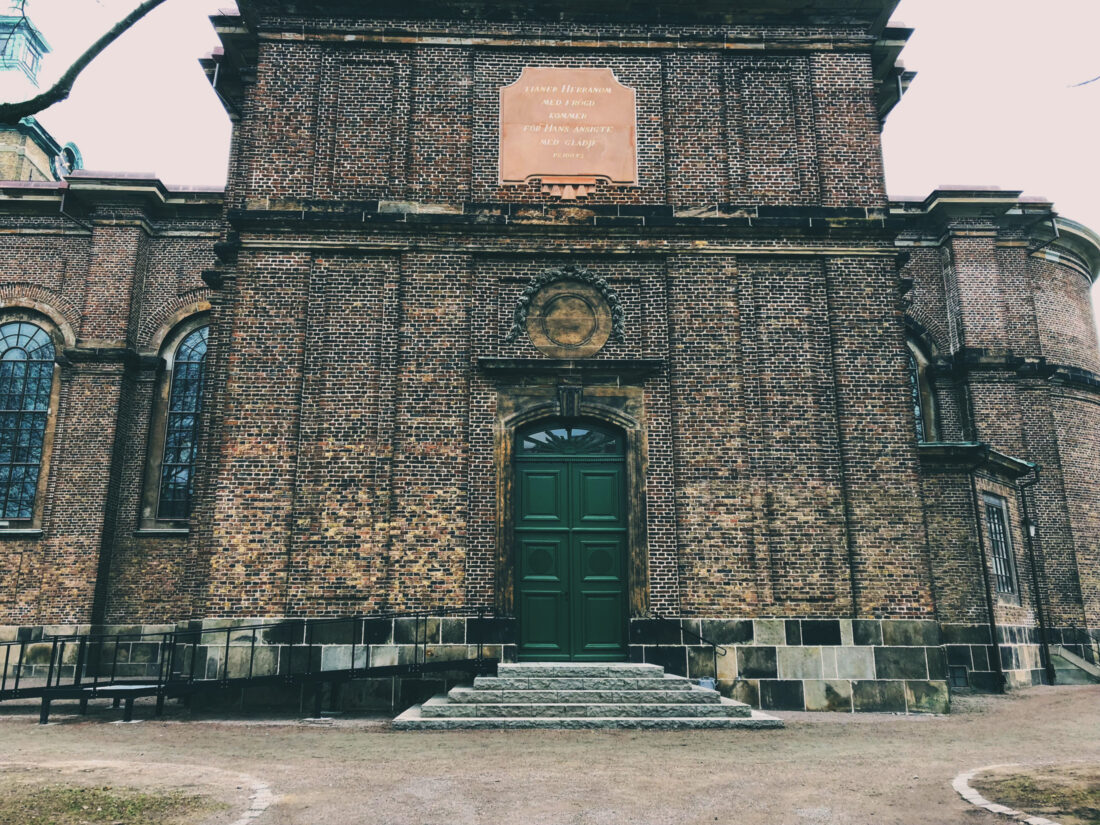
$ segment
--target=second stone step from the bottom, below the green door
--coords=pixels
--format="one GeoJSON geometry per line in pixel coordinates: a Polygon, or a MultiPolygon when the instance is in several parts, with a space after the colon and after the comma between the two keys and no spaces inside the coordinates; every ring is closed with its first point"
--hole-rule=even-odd
{"type": "Polygon", "coordinates": [[[630,705],[630,704],[556,704],[525,702],[516,704],[461,704],[451,702],[440,694],[421,705],[424,718],[458,718],[458,717],[557,717],[557,718],[664,718],[696,716],[748,716],[752,712],[741,702],[723,698],[718,703],[707,704],[670,704],[670,705],[630,705]]]}

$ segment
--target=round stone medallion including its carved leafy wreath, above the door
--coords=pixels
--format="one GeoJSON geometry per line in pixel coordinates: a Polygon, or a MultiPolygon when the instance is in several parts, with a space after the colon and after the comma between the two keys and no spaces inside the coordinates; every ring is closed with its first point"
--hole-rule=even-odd
{"type": "Polygon", "coordinates": [[[550,358],[588,358],[608,339],[623,340],[623,308],[603,278],[580,266],[537,275],[516,301],[515,341],[526,331],[539,352],[550,358]]]}

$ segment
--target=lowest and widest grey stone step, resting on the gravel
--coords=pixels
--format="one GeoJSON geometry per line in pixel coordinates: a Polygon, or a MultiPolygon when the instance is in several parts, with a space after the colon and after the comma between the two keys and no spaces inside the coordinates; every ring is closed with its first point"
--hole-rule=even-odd
{"type": "Polygon", "coordinates": [[[426,718],[420,712],[420,705],[414,705],[396,719],[396,730],[470,730],[477,728],[491,729],[632,729],[632,730],[698,730],[733,728],[767,729],[783,727],[782,719],[768,716],[759,711],[752,711],[748,716],[663,716],[663,717],[546,717],[546,716],[469,716],[459,718],[426,718]]]}

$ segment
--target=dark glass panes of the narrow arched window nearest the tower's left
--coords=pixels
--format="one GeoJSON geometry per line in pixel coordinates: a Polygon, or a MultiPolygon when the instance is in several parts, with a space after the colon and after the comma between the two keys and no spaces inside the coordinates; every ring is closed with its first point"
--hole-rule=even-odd
{"type": "Polygon", "coordinates": [[[209,331],[209,327],[199,327],[188,333],[172,360],[172,388],[156,507],[158,520],[184,521],[191,515],[209,331]]]}

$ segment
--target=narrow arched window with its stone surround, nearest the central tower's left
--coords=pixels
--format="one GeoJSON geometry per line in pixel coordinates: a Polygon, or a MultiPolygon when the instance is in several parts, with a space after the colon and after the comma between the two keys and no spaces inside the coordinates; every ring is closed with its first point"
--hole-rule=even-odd
{"type": "Polygon", "coordinates": [[[166,370],[153,405],[141,527],[186,529],[195,492],[202,378],[210,328],[205,319],[177,328],[166,342],[166,370]]]}

